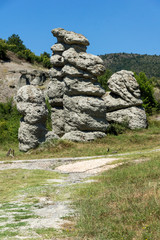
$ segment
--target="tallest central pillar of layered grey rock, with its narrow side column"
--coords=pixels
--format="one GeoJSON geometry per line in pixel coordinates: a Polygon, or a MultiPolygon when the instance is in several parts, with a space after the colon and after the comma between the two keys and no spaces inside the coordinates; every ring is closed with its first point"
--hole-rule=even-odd
{"type": "Polygon", "coordinates": [[[52,105],[53,130],[63,139],[93,140],[105,136],[104,89],[97,77],[104,73],[101,58],[86,53],[89,41],[81,34],[62,28],[52,30],[58,42],[52,46],[51,82],[48,97],[52,105]]]}

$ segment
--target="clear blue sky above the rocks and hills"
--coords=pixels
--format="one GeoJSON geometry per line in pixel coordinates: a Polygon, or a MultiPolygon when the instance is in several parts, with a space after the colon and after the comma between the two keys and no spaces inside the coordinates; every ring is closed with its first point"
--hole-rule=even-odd
{"type": "Polygon", "coordinates": [[[83,34],[95,55],[160,55],[160,0],[0,0],[0,23],[0,38],[18,34],[37,55],[51,53],[57,27],[83,34]]]}

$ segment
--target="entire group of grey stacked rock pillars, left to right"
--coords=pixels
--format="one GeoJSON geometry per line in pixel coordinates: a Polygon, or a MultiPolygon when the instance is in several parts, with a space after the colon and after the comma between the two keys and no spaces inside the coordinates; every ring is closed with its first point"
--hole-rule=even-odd
{"type": "Polygon", "coordinates": [[[51,104],[52,132],[47,132],[47,108],[44,94],[34,85],[41,85],[44,73],[21,71],[16,97],[22,113],[18,138],[19,148],[28,151],[47,139],[90,141],[106,135],[109,123],[127,123],[131,129],[146,128],[139,85],[130,71],[122,70],[108,81],[110,92],[97,82],[104,73],[101,58],[86,53],[89,45],[81,34],[62,28],[52,30],[57,43],[49,71],[47,96],[51,104]],[[28,81],[28,82],[27,82],[28,81]]]}

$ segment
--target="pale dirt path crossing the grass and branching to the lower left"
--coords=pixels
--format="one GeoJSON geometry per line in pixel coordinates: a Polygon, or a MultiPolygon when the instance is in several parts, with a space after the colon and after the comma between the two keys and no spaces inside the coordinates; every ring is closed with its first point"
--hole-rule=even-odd
{"type": "MultiPolygon", "coordinates": [[[[157,152],[160,149],[154,149],[150,151],[136,152],[140,153],[151,153],[157,152]]],[[[42,239],[36,232],[36,229],[60,229],[62,225],[72,224],[70,221],[66,220],[66,216],[72,216],[75,214],[72,209],[72,203],[70,201],[70,192],[64,192],[64,189],[74,186],[74,184],[84,184],[92,182],[92,179],[87,179],[88,177],[94,176],[100,172],[107,171],[111,168],[115,168],[123,163],[115,163],[116,161],[124,158],[124,156],[135,154],[125,153],[125,154],[112,154],[105,156],[94,156],[94,157],[81,157],[81,158],[57,158],[57,159],[35,159],[35,160],[16,160],[11,162],[0,162],[0,170],[7,169],[42,169],[45,171],[58,172],[61,175],[60,179],[48,179],[46,184],[43,186],[42,191],[46,188],[56,187],[55,194],[57,196],[64,195],[63,200],[51,201],[47,196],[39,197],[38,203],[30,204],[29,206],[24,204],[23,200],[25,194],[20,195],[19,199],[14,202],[10,202],[7,206],[7,210],[4,205],[0,205],[0,218],[4,221],[0,221],[0,228],[3,231],[9,230],[10,224],[15,224],[14,216],[20,214],[21,212],[26,212],[29,210],[33,218],[28,218],[21,220],[20,226],[18,226],[19,234],[14,238],[8,239],[42,239]],[[119,157],[122,158],[119,158],[119,157]],[[113,163],[114,162],[114,163],[113,163]],[[113,163],[113,164],[112,164],[113,163]],[[65,175],[64,175],[65,174],[65,175]],[[8,227],[6,227],[6,220],[8,227]],[[23,225],[24,223],[24,225],[23,225]]],[[[137,160],[136,160],[137,161],[137,160]]],[[[36,189],[33,189],[34,191],[36,189]]],[[[53,238],[51,238],[53,239],[53,238]]],[[[55,238],[59,239],[59,238],[55,238]]]]}

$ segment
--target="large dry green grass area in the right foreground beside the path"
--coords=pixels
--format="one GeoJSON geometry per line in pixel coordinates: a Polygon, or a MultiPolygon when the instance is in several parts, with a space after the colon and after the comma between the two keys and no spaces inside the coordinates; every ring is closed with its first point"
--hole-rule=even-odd
{"type": "Polygon", "coordinates": [[[150,161],[124,164],[76,188],[80,239],[160,239],[159,159],[154,154],[150,161]]]}

